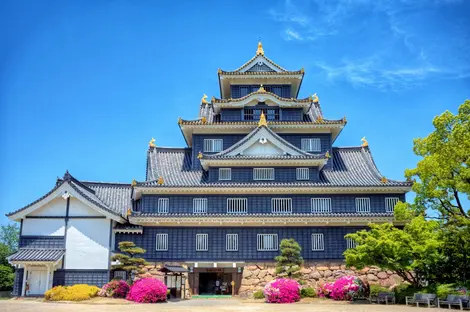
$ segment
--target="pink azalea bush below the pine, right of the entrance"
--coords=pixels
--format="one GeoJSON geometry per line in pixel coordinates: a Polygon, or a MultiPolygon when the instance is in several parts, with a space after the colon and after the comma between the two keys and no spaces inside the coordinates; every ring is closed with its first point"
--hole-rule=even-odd
{"type": "Polygon", "coordinates": [[[288,278],[272,280],[264,287],[268,303],[292,303],[300,300],[300,284],[288,278]]]}

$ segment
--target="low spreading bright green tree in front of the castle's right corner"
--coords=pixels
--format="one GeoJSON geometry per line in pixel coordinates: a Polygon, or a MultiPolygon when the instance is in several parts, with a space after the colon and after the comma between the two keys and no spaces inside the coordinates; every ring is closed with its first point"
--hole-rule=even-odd
{"type": "Polygon", "coordinates": [[[390,223],[370,224],[369,227],[369,231],[346,235],[357,243],[355,248],[344,252],[348,266],[361,269],[375,265],[395,272],[415,287],[425,280],[436,279],[434,268],[443,261],[439,222],[420,216],[404,229],[390,223]]]}

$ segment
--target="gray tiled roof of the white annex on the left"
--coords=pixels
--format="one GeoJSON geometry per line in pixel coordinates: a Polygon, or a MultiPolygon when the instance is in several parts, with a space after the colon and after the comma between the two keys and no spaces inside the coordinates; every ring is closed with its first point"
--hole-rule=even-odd
{"type": "Polygon", "coordinates": [[[56,185],[52,190],[40,197],[38,200],[20,208],[16,211],[6,214],[11,216],[22,210],[25,210],[37,202],[43,200],[62,184],[68,183],[77,193],[85,199],[100,207],[101,209],[110,212],[117,216],[122,216],[130,207],[131,202],[131,185],[121,183],[103,183],[103,182],[82,182],[70,175],[68,171],[62,179],[58,179],[56,185]]]}

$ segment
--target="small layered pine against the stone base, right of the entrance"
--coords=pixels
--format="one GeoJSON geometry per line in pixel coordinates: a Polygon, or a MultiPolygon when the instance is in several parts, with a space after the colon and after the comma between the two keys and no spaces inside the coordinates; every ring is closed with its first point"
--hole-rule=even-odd
{"type": "Polygon", "coordinates": [[[300,266],[304,259],[300,255],[302,248],[295,239],[281,240],[281,254],[275,258],[276,274],[295,278],[300,276],[300,266]]]}

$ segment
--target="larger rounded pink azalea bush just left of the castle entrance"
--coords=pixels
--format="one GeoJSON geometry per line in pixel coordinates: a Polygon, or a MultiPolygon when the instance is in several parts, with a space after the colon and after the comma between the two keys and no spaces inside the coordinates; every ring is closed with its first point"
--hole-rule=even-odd
{"type": "Polygon", "coordinates": [[[126,299],[139,303],[155,303],[166,300],[166,285],[154,278],[143,278],[134,283],[126,299]]]}

